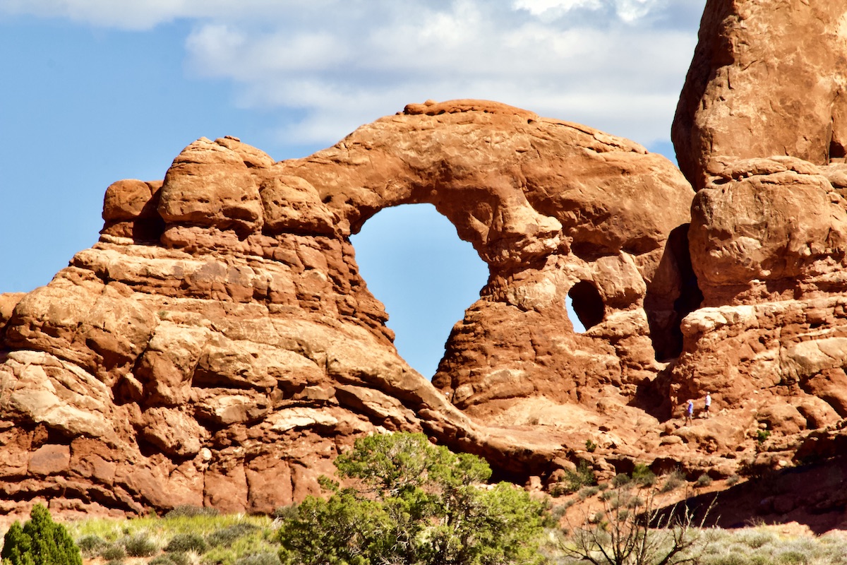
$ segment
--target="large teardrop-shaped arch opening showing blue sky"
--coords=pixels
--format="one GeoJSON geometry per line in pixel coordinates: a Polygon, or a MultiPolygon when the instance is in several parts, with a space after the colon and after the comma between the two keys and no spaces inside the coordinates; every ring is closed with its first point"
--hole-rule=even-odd
{"type": "Polygon", "coordinates": [[[453,325],[479,299],[488,265],[432,204],[380,210],[351,241],[368,290],[385,305],[397,352],[431,379],[453,325]]]}

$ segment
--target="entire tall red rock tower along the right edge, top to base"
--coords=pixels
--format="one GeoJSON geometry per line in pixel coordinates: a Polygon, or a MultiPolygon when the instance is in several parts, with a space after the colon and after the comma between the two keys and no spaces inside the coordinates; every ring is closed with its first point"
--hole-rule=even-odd
{"type": "Polygon", "coordinates": [[[844,3],[710,0],[673,123],[703,302],[668,408],[711,391],[747,435],[773,432],[753,467],[844,439],[845,64],[844,3]]]}

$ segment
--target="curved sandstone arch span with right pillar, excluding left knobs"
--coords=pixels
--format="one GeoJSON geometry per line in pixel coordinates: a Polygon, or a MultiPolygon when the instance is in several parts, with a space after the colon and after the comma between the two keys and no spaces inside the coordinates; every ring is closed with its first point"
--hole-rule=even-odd
{"type": "Polygon", "coordinates": [[[658,265],[693,197],[661,155],[583,125],[460,100],[407,106],[280,166],[314,187],[341,235],[381,209],[430,203],[489,265],[482,300],[454,326],[433,379],[458,406],[573,400],[590,395],[590,374],[619,370],[614,380],[627,382],[654,366],[650,314],[635,313],[648,287],[676,284],[658,265]],[[608,329],[590,338],[562,316],[579,280],[593,281],[606,306],[597,327],[608,329]],[[616,349],[622,331],[643,346],[616,349]]]}

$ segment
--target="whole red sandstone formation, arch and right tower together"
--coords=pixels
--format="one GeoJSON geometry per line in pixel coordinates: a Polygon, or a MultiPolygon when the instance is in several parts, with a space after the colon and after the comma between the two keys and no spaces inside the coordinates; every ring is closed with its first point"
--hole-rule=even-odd
{"type": "Polygon", "coordinates": [[[382,430],[540,486],[581,461],[719,479],[838,452],[844,21],[710,0],[673,126],[685,176],[632,141],[458,100],[302,159],[201,139],[163,180],[114,183],[95,246],[0,295],[0,512],[269,512],[382,430]],[[490,269],[431,383],[350,242],[420,202],[490,269]]]}

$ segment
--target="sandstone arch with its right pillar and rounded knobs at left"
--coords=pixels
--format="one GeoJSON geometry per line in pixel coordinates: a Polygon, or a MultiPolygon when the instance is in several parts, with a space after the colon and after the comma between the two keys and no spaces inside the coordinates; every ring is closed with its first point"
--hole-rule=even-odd
{"type": "MultiPolygon", "coordinates": [[[[597,371],[617,366],[621,382],[655,373],[653,344],[678,333],[679,274],[664,247],[689,222],[692,196],[673,164],[632,141],[459,100],[409,105],[334,147],[279,163],[236,140],[197,141],[169,169],[158,213],[162,241],[179,248],[203,241],[197,230],[208,229],[234,231],[240,241],[251,233],[346,239],[381,209],[433,204],[490,269],[433,379],[470,407],[588,394],[585,359],[575,351],[588,352],[597,371]],[[574,335],[561,316],[580,280],[604,304],[602,329],[590,337],[574,335]],[[492,324],[511,332],[495,339],[496,352],[492,324]],[[615,345],[622,332],[639,345],[615,345]],[[559,342],[567,345],[552,345],[559,342]]],[[[390,338],[384,326],[374,329],[390,338]]]]}

